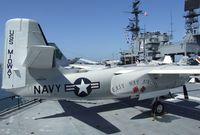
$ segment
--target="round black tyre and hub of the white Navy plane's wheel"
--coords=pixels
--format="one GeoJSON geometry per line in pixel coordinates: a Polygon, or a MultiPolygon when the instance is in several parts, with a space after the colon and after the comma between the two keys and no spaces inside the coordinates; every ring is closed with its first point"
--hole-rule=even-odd
{"type": "Polygon", "coordinates": [[[160,101],[156,101],[152,107],[152,113],[156,115],[163,115],[164,114],[164,105],[160,101]]]}

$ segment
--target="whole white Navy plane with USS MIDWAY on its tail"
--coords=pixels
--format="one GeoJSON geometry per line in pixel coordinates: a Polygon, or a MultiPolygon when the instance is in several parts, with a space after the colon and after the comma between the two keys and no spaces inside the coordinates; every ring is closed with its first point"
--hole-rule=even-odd
{"type": "MultiPolygon", "coordinates": [[[[31,19],[6,22],[2,88],[24,97],[41,99],[97,100],[132,97],[139,100],[167,95],[183,86],[198,66],[131,66],[70,72],[58,64],[51,46],[31,19]]],[[[164,106],[154,100],[153,112],[164,106]]]]}

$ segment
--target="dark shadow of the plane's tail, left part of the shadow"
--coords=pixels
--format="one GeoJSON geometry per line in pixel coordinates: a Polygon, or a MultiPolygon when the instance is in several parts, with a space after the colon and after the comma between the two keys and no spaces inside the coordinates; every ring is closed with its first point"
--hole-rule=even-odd
{"type": "Polygon", "coordinates": [[[72,116],[106,134],[120,132],[117,127],[101,117],[96,111],[94,111],[94,109],[91,110],[90,108],[66,100],[59,100],[58,102],[64,110],[63,113],[37,118],[36,120],[72,116]]]}

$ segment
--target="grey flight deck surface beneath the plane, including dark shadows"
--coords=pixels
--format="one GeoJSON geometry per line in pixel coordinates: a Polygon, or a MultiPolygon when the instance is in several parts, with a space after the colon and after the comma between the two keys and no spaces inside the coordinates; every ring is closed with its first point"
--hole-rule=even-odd
{"type": "MultiPolygon", "coordinates": [[[[152,117],[150,100],[44,101],[0,117],[1,135],[197,135],[200,85],[187,85],[191,99],[163,101],[166,114],[152,117]]],[[[173,90],[176,93],[181,89],[173,90]]]]}

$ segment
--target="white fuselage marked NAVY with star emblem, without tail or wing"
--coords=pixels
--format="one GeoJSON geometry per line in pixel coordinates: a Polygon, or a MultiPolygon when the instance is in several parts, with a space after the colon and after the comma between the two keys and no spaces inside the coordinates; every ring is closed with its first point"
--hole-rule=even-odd
{"type": "Polygon", "coordinates": [[[85,73],[67,73],[58,69],[29,70],[29,84],[19,95],[44,99],[107,99],[138,97],[140,94],[171,89],[185,84],[186,75],[149,75],[155,67],[117,67],[85,73]],[[141,70],[143,69],[143,70],[141,70]],[[117,73],[122,70],[130,73],[117,73]],[[123,77],[126,75],[126,77],[123,77]]]}

